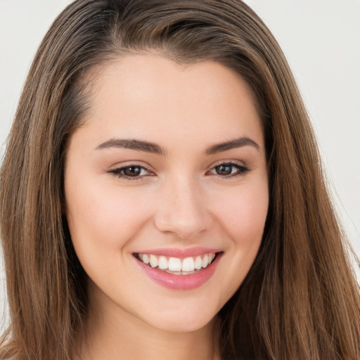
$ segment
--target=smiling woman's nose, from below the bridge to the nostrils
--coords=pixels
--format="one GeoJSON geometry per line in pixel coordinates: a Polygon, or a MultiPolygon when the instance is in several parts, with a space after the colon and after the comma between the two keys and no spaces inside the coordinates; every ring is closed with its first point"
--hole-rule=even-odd
{"type": "Polygon", "coordinates": [[[191,239],[210,229],[212,216],[199,184],[183,176],[167,181],[158,197],[155,226],[164,233],[191,239]]]}

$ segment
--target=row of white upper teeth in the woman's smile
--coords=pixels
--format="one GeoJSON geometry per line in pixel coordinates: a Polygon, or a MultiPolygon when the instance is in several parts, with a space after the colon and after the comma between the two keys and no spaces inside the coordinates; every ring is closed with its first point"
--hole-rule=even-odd
{"type": "Polygon", "coordinates": [[[159,267],[160,270],[169,271],[194,271],[205,268],[214,260],[215,254],[199,255],[197,257],[165,257],[148,254],[138,254],[139,259],[144,264],[150,264],[151,267],[159,267]]]}

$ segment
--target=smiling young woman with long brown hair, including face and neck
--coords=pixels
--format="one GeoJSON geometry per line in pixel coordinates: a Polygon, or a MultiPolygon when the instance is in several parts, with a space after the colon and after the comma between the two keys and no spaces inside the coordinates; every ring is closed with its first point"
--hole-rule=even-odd
{"type": "Polygon", "coordinates": [[[77,0],[1,167],[1,359],[359,359],[293,76],[241,1],[77,0]]]}

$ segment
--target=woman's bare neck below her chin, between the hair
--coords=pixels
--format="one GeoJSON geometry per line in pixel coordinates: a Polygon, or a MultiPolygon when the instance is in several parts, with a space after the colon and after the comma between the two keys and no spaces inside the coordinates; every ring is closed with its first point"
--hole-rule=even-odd
{"type": "Polygon", "coordinates": [[[116,304],[98,309],[94,302],[75,360],[220,359],[216,318],[198,330],[174,332],[154,328],[116,304]]]}

